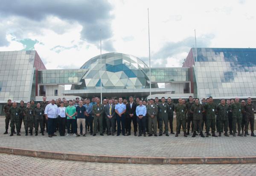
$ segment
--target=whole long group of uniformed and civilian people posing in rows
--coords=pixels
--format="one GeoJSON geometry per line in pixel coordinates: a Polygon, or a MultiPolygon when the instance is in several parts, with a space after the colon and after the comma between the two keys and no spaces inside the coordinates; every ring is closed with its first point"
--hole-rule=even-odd
{"type": "Polygon", "coordinates": [[[22,121],[25,127],[25,135],[33,135],[33,128],[35,127],[35,136],[38,136],[38,127],[40,126],[40,133],[44,135],[44,130],[49,137],[56,136],[55,132],[58,130],[60,136],[86,136],[87,131],[90,135],[96,136],[99,133],[104,136],[104,133],[114,136],[131,135],[131,122],[133,123],[134,136],[162,136],[165,134],[175,134],[173,130],[173,117],[176,114],[176,134],[180,134],[182,127],[183,136],[187,137],[192,129],[192,137],[197,136],[197,132],[201,137],[205,125],[206,137],[210,136],[210,130],[214,137],[230,135],[247,136],[248,126],[250,124],[251,136],[254,135],[254,105],[252,99],[247,98],[247,103],[244,100],[239,102],[239,98],[221,99],[217,105],[213,102],[212,97],[203,98],[202,104],[199,99],[193,99],[189,96],[189,101],[179,98],[178,104],[172,103],[169,97],[162,97],[161,100],[156,97],[148,101],[140,100],[132,96],[129,100],[123,98],[105,98],[102,101],[98,97],[93,97],[92,102],[90,98],[67,101],[65,98],[54,99],[46,101],[46,96],[43,101],[35,104],[35,101],[30,101],[24,106],[24,102],[20,101],[20,106],[11,100],[4,106],[6,113],[6,131],[10,122],[11,134],[13,136],[15,127],[17,136],[20,136],[20,129],[22,121]],[[164,124],[164,129],[163,129],[164,124]],[[117,127],[117,129],[116,129],[117,127]],[[216,129],[215,129],[216,127],[216,129]],[[157,135],[157,128],[159,134],[157,135]],[[236,130],[237,128],[237,130],[236,130]],[[67,129],[67,134],[66,133],[67,129]]]}

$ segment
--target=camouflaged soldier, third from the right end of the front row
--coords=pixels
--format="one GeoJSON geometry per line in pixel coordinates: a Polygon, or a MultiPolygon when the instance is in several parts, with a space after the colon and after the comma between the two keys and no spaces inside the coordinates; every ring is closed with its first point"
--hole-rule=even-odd
{"type": "Polygon", "coordinates": [[[226,102],[224,99],[221,99],[221,104],[217,107],[217,113],[218,113],[218,129],[219,129],[219,135],[221,136],[221,131],[223,130],[224,125],[224,135],[229,136],[227,134],[227,126],[228,126],[228,106],[226,105],[226,102]]]}

